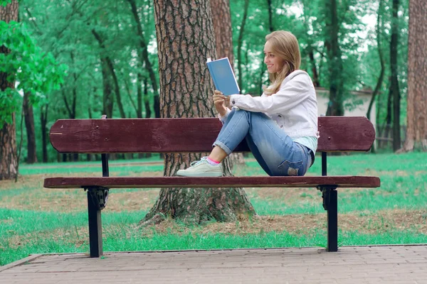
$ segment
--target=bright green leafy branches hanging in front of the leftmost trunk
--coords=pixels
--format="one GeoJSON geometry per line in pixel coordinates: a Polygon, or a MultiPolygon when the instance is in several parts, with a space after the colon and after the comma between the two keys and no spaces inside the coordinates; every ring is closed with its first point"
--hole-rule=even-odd
{"type": "Polygon", "coordinates": [[[16,89],[0,91],[0,127],[11,123],[11,114],[20,102],[19,90],[31,93],[30,102],[46,102],[45,94],[58,89],[63,82],[66,66],[58,65],[51,53],[43,53],[26,31],[23,23],[0,21],[0,43],[10,50],[0,53],[0,72],[8,75],[9,82],[16,82],[16,89]]]}

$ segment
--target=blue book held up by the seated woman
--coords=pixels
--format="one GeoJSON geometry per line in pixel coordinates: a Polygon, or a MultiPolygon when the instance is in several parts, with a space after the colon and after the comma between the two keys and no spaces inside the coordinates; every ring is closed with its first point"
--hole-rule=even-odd
{"type": "Polygon", "coordinates": [[[215,88],[218,89],[218,91],[221,91],[226,96],[240,93],[236,77],[234,76],[228,58],[221,58],[214,61],[208,58],[206,64],[208,65],[209,73],[211,73],[215,88]]]}

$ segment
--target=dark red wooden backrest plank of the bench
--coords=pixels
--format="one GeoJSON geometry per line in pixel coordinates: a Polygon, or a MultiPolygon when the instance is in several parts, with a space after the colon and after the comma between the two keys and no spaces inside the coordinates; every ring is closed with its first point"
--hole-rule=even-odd
{"type": "MultiPolygon", "coordinates": [[[[207,152],[221,130],[218,119],[60,119],[51,127],[60,153],[207,152]]],[[[368,151],[374,126],[363,116],[319,117],[317,151],[368,151]]],[[[249,151],[243,141],[236,151],[249,151]]]]}

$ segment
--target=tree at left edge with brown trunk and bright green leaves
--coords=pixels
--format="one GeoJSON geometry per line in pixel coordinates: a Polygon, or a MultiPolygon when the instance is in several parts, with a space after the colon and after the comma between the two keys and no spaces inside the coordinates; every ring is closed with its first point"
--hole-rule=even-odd
{"type": "MultiPolygon", "coordinates": [[[[3,4],[4,1],[1,1],[3,4]]],[[[1,5],[0,5],[1,6],[1,5]]],[[[1,89],[0,124],[2,139],[1,179],[16,178],[18,174],[18,160],[15,143],[14,112],[21,102],[21,94],[28,95],[30,104],[38,104],[46,99],[46,92],[59,87],[65,75],[65,66],[58,65],[51,53],[44,53],[33,41],[24,23],[11,21],[18,18],[18,4],[12,1],[1,6],[2,19],[0,21],[0,72],[1,89]],[[15,82],[18,86],[15,88],[15,82]],[[6,142],[6,140],[5,140],[6,142]],[[5,168],[6,167],[6,168],[5,168]],[[13,169],[14,168],[14,169],[13,169]]]]}

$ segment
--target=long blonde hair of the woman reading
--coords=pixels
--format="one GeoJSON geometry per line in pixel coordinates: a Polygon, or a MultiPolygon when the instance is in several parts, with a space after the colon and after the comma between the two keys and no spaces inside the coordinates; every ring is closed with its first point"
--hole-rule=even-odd
{"type": "Polygon", "coordinates": [[[264,87],[264,93],[270,96],[278,92],[280,84],[290,73],[300,69],[301,54],[297,38],[288,31],[273,31],[265,36],[265,41],[271,44],[273,53],[284,60],[280,72],[269,74],[271,84],[270,87],[264,87]]]}

